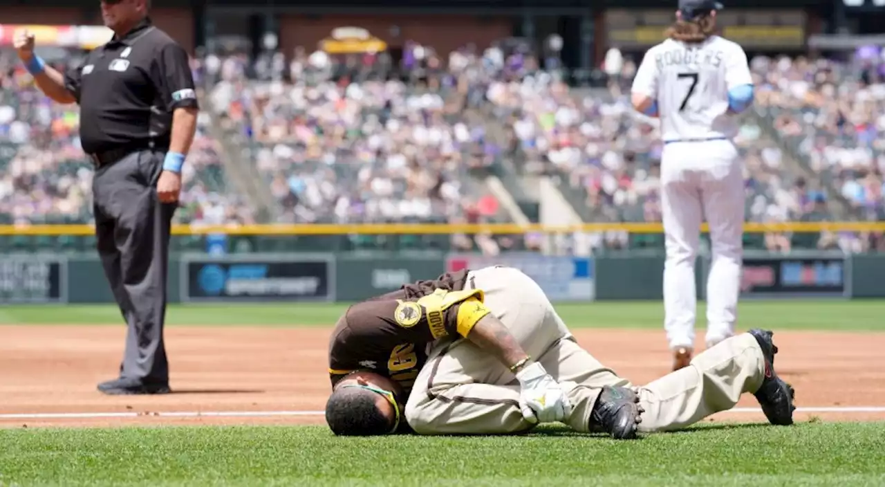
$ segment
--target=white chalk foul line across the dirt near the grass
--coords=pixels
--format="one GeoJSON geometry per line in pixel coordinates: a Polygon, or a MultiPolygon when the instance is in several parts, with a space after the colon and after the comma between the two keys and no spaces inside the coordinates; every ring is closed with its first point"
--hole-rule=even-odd
{"type": "MultiPolygon", "coordinates": [[[[822,406],[797,407],[797,413],[885,413],[885,406],[822,406]]],[[[718,414],[761,414],[758,407],[735,407],[718,414]]],[[[110,419],[110,418],[261,418],[322,416],[323,411],[164,411],[144,413],[12,413],[0,414],[0,420],[71,420],[71,419],[110,419]]]]}

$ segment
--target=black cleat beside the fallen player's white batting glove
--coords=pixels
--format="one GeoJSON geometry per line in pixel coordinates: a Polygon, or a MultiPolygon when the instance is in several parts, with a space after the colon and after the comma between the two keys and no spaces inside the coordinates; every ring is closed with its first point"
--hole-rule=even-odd
{"type": "Polygon", "coordinates": [[[605,386],[590,413],[590,430],[608,433],[614,439],[634,439],[643,412],[634,390],[605,386]]]}

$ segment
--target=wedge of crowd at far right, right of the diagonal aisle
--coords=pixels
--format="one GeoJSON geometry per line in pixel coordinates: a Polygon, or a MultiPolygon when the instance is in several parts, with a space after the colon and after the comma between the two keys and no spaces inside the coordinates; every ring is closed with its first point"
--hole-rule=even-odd
{"type": "Polygon", "coordinates": [[[853,64],[759,59],[758,103],[823,181],[865,219],[885,220],[885,62],[869,50],[853,64]]]}

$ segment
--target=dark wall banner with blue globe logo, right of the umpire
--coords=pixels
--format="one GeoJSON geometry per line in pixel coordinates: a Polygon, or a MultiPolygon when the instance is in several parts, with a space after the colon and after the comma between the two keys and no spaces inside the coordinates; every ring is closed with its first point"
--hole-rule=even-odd
{"type": "Polygon", "coordinates": [[[181,259],[181,301],[334,301],[332,254],[242,254],[181,259]]]}

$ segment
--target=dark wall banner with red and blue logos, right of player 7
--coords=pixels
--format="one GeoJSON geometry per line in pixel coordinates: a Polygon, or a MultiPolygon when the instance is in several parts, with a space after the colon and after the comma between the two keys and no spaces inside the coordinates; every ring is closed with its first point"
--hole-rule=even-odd
{"type": "Polygon", "coordinates": [[[747,256],[741,298],[850,298],[850,282],[844,255],[747,256]]]}

